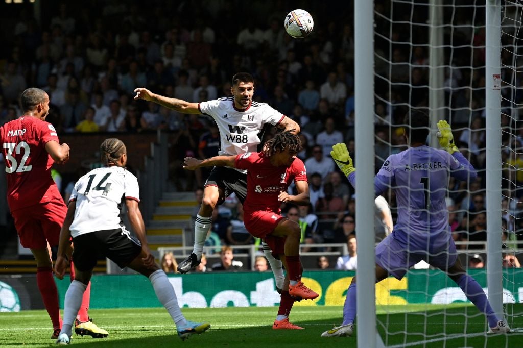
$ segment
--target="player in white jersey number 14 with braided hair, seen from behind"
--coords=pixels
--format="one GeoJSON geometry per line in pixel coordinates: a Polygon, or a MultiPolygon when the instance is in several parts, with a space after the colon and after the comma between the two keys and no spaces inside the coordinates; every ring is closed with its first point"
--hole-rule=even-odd
{"type": "Polygon", "coordinates": [[[60,231],[55,274],[59,279],[64,276],[67,268],[67,245],[72,237],[76,278],[65,294],[63,325],[56,344],[65,345],[71,342],[73,321],[98,256],[107,257],[121,268],[128,266],[149,277],[156,297],[169,312],[182,340],[206,331],[210,328],[209,323],[185,319],[173,286],[154,261],[147,246],[145,226],[138,207],[138,180],[125,169],[126,146],[116,138],[107,139],[100,146],[100,157],[104,167],[88,172],[75,183],[60,231]],[[132,236],[121,222],[122,200],[125,200],[132,230],[138,238],[132,236]]]}

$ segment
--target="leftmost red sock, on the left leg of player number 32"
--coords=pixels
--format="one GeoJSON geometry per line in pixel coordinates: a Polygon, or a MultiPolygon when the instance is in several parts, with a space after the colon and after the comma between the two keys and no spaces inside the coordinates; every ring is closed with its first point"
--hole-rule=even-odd
{"type": "Polygon", "coordinates": [[[46,307],[53,323],[53,328],[62,327],[60,317],[60,304],[58,302],[58,289],[54,282],[53,269],[51,267],[38,267],[36,270],[36,283],[42,295],[43,305],[46,307]]]}

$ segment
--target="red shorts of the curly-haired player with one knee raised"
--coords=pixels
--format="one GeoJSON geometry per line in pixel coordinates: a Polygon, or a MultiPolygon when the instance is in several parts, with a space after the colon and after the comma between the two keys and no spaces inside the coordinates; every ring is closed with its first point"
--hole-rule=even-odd
{"type": "Polygon", "coordinates": [[[277,255],[285,254],[283,250],[285,237],[272,236],[271,233],[276,226],[278,226],[281,219],[284,218],[285,217],[276,213],[257,210],[254,212],[245,212],[243,222],[249,233],[254,237],[264,239],[272,250],[272,253],[277,255]]]}

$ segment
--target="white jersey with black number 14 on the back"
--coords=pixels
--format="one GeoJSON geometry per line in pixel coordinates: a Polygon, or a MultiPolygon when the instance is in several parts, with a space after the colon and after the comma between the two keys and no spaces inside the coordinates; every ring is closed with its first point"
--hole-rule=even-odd
{"type": "Polygon", "coordinates": [[[76,200],[71,236],[122,226],[123,198],[140,202],[137,178],[122,167],[93,169],[74,184],[70,202],[76,200]]]}

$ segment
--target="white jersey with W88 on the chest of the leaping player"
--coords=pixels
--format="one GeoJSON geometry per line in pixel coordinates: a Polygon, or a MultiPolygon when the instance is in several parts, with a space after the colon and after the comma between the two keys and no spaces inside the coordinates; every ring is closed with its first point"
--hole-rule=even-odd
{"type": "Polygon", "coordinates": [[[257,152],[258,133],[265,123],[279,124],[285,115],[267,103],[253,101],[245,110],[234,106],[234,98],[219,98],[198,103],[198,110],[212,117],[220,131],[219,155],[240,155],[257,152]]]}

